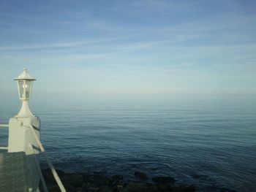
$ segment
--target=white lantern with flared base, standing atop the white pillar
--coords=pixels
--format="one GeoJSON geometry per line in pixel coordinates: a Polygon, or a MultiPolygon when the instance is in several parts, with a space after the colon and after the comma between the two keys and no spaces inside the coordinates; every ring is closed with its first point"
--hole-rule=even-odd
{"type": "Polygon", "coordinates": [[[26,68],[23,69],[23,72],[15,78],[18,83],[18,93],[20,100],[22,101],[22,107],[16,118],[27,118],[34,116],[29,109],[29,99],[31,97],[32,85],[35,80],[30,74],[27,72],[26,68]]]}

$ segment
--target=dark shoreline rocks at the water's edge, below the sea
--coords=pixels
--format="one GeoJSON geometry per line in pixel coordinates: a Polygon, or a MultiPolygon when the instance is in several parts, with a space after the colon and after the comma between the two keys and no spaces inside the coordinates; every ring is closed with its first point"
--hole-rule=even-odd
{"type": "MultiPolygon", "coordinates": [[[[107,177],[104,174],[84,174],[58,172],[61,181],[67,191],[70,192],[194,192],[194,185],[177,184],[173,177],[152,177],[143,172],[135,172],[136,180],[124,181],[120,174],[107,177]]],[[[59,191],[59,187],[50,172],[50,169],[42,169],[48,191],[59,191]]],[[[40,186],[40,191],[43,191],[40,186]]],[[[233,192],[228,189],[218,189],[219,192],[233,192]]],[[[235,192],[235,191],[234,191],[235,192]]]]}

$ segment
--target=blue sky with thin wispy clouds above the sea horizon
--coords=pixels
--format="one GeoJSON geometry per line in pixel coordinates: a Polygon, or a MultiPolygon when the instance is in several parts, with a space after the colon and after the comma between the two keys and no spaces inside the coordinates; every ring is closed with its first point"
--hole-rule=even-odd
{"type": "Polygon", "coordinates": [[[0,1],[0,90],[256,94],[256,1],[0,1]]]}

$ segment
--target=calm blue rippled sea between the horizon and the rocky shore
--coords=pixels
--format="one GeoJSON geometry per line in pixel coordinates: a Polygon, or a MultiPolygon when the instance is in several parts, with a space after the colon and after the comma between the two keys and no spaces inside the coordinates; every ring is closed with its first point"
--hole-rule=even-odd
{"type": "MultiPolygon", "coordinates": [[[[20,102],[16,94],[0,97],[6,123],[20,102]]],[[[256,191],[255,96],[34,94],[30,104],[59,169],[129,179],[139,170],[199,191],[256,191]]],[[[6,130],[0,144],[7,144],[6,130]]]]}

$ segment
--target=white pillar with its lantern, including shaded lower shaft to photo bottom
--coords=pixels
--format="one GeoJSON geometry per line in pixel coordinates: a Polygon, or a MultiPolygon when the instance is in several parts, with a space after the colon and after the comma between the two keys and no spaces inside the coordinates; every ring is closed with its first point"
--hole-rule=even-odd
{"type": "MultiPolygon", "coordinates": [[[[29,168],[29,177],[31,178],[31,191],[38,191],[40,176],[37,171],[37,164],[34,161],[34,155],[39,154],[37,150],[31,150],[31,146],[39,148],[37,140],[34,138],[34,133],[29,129],[34,127],[37,138],[40,138],[40,120],[34,116],[29,109],[29,99],[31,96],[31,81],[34,79],[28,74],[26,69],[15,79],[18,80],[18,88],[20,100],[23,101],[22,107],[18,115],[9,120],[9,138],[8,138],[8,152],[26,153],[26,164],[29,168]],[[20,91],[23,93],[20,94],[20,91]]],[[[37,157],[36,157],[37,158],[37,157]]]]}

